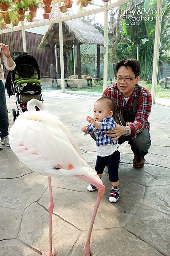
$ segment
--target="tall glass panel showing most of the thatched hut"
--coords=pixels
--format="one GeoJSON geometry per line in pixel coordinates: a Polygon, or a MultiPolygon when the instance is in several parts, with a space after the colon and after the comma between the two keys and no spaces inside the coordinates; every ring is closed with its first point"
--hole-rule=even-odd
{"type": "Polygon", "coordinates": [[[103,90],[104,13],[63,22],[65,89],[103,90]]]}

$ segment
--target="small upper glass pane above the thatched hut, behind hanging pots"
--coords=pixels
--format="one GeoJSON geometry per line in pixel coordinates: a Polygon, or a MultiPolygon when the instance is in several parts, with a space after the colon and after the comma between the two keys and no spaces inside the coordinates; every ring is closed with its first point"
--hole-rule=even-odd
{"type": "Polygon", "coordinates": [[[62,17],[68,15],[74,15],[80,12],[87,12],[93,9],[97,9],[104,6],[104,2],[102,0],[77,0],[77,1],[68,1],[73,2],[71,8],[65,8],[65,4],[62,3],[60,10],[62,12],[62,17]]]}

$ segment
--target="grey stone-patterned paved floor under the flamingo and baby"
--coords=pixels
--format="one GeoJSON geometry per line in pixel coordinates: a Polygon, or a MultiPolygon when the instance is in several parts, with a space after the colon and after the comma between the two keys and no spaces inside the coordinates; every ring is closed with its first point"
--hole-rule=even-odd
{"type": "MultiPolygon", "coordinates": [[[[85,160],[95,166],[96,146],[81,126],[101,94],[43,92],[44,105],[60,116],[74,135],[85,160]]],[[[14,97],[7,98],[10,126],[14,97]]],[[[144,168],[135,169],[130,146],[121,145],[121,196],[108,201],[110,183],[96,216],[93,256],[170,256],[170,108],[153,105],[152,145],[144,168]]],[[[57,256],[83,256],[97,192],[77,179],[52,178],[53,245],[57,256]]],[[[36,256],[48,248],[48,179],[20,163],[10,148],[0,151],[0,256],[36,256]]]]}

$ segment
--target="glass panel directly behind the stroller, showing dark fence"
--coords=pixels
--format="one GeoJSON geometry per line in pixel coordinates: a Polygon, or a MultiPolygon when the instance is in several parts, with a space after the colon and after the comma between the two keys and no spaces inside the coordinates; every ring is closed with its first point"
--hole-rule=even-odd
{"type": "MultiPolygon", "coordinates": [[[[56,88],[58,84],[57,69],[60,70],[60,62],[56,45],[59,47],[57,24],[26,29],[27,52],[37,60],[43,90],[56,88]],[[52,38],[53,27],[55,27],[55,34],[52,38]]],[[[61,87],[58,89],[61,90],[61,87]]]]}

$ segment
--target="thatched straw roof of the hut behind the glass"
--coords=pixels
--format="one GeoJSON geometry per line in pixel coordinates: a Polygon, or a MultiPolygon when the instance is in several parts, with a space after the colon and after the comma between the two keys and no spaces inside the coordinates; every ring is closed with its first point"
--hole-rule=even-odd
{"type": "MultiPolygon", "coordinates": [[[[103,45],[104,37],[87,20],[74,19],[62,22],[63,45],[72,47],[73,41],[79,44],[99,44],[103,45]]],[[[58,23],[51,24],[40,42],[39,49],[48,49],[59,44],[58,23]]]]}

